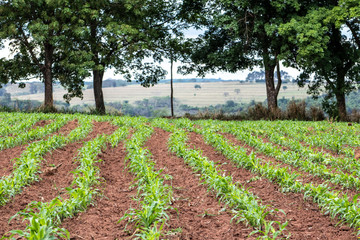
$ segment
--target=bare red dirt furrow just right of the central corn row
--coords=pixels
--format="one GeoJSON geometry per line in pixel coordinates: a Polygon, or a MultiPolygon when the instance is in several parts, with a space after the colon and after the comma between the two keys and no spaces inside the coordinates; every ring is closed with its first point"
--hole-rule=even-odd
{"type": "Polygon", "coordinates": [[[167,139],[170,133],[155,129],[146,147],[153,154],[157,169],[164,169],[172,179],[167,184],[174,191],[170,220],[164,228],[165,239],[245,239],[253,231],[244,224],[230,223],[231,213],[221,211],[223,206],[204,185],[199,183],[198,174],[168,151],[167,139]]]}

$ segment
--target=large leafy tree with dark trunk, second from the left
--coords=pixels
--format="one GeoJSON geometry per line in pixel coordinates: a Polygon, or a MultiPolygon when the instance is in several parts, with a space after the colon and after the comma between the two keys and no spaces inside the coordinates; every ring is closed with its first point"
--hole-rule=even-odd
{"type": "Polygon", "coordinates": [[[161,46],[167,36],[176,34],[171,26],[177,4],[176,0],[83,1],[78,16],[84,27],[74,41],[93,63],[97,112],[105,113],[102,82],[107,69],[145,87],[165,76],[166,71],[154,63],[162,61],[161,46]]]}

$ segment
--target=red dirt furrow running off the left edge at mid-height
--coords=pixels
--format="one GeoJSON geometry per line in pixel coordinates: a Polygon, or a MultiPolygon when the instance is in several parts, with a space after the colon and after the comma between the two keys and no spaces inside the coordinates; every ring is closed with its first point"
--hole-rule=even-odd
{"type": "MultiPolygon", "coordinates": [[[[45,120],[43,120],[45,121],[45,120]]],[[[50,120],[47,120],[50,121],[50,120]]],[[[41,121],[42,122],[42,121],[41,121]]],[[[45,123],[37,123],[38,126],[44,126],[45,123]]],[[[66,123],[62,128],[60,128],[57,132],[51,134],[63,134],[67,135],[69,134],[73,129],[75,129],[78,126],[77,120],[70,121],[66,123]]],[[[49,136],[51,136],[49,135],[49,136]]],[[[16,158],[19,158],[21,153],[26,150],[26,147],[29,146],[30,143],[34,141],[30,141],[24,145],[16,146],[13,148],[8,148],[0,151],[0,177],[9,175],[13,171],[13,165],[16,158]]]]}

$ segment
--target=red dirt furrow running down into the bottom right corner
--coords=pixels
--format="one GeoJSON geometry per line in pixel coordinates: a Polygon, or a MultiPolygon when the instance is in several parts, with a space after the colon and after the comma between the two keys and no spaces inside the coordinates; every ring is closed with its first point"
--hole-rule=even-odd
{"type": "Polygon", "coordinates": [[[286,227],[291,233],[290,239],[356,239],[354,229],[347,226],[335,226],[337,221],[323,215],[316,204],[304,201],[303,195],[298,193],[282,193],[278,185],[265,178],[258,177],[245,169],[237,168],[230,160],[206,144],[199,134],[190,134],[190,144],[203,150],[203,155],[217,162],[219,169],[231,175],[249,191],[257,195],[263,204],[271,208],[284,210],[276,214],[276,220],[288,221],[286,227]]]}

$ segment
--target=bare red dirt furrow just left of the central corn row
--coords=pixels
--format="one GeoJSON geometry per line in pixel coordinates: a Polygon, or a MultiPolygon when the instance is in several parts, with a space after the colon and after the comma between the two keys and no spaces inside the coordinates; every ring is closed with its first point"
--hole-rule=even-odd
{"type": "Polygon", "coordinates": [[[62,226],[70,232],[72,240],[81,239],[130,239],[132,232],[124,231],[126,222],[117,223],[134,204],[136,188],[129,189],[133,175],[125,169],[126,152],[120,144],[108,148],[99,156],[100,175],[104,178],[103,196],[94,206],[72,219],[65,219],[62,226]]]}

